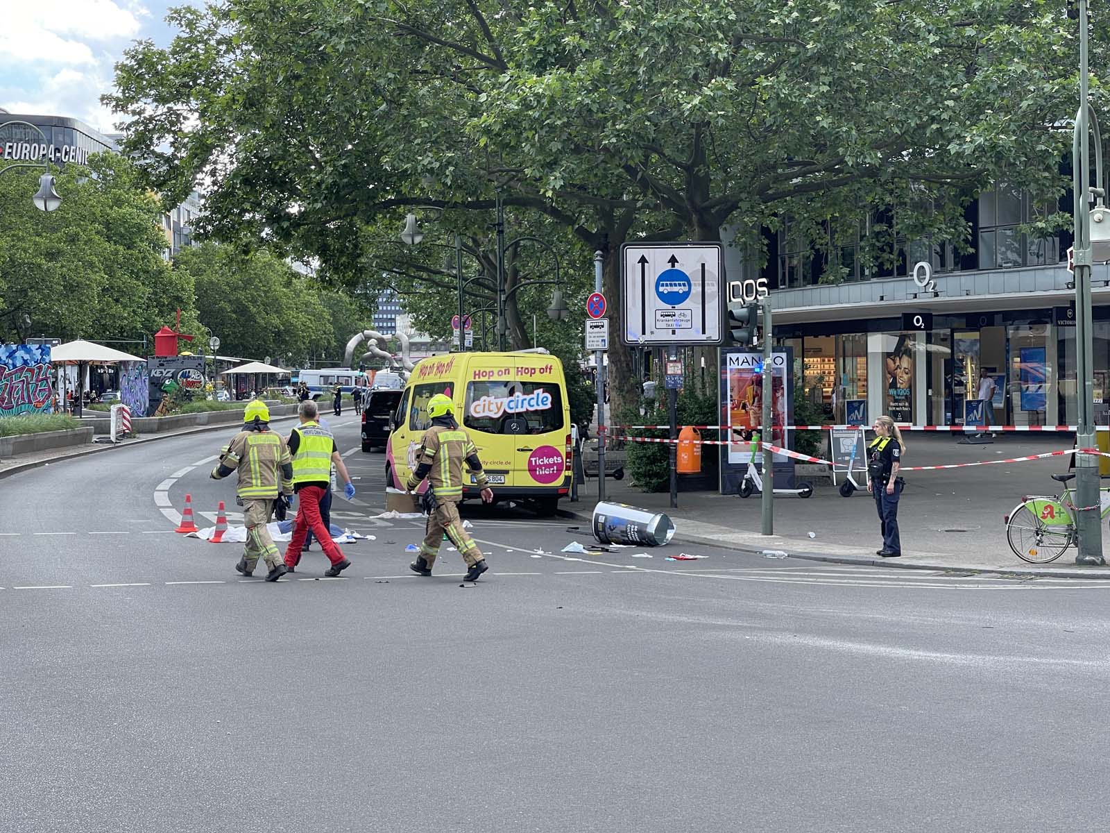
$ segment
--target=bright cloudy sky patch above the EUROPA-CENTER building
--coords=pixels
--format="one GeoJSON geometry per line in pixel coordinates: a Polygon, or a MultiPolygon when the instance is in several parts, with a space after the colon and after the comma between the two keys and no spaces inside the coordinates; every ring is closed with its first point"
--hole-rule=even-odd
{"type": "Polygon", "coordinates": [[[0,107],[13,113],[67,116],[111,131],[100,96],[131,41],[160,46],[173,32],[163,18],[188,0],[7,0],[0,13],[0,107]]]}

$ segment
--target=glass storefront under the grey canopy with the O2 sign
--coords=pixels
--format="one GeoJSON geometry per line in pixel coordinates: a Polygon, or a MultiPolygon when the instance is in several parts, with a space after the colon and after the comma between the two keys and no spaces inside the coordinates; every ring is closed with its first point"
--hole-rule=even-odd
{"type": "MultiPolygon", "coordinates": [[[[915,425],[963,424],[969,401],[993,382],[991,408],[972,411],[992,424],[1054,425],[1077,421],[1074,328],[1051,310],[937,315],[927,332],[894,320],[805,324],[776,341],[795,350],[798,395],[829,422],[879,413],[915,425]],[[884,327],[884,324],[895,324],[884,327]],[[800,332],[799,332],[800,331],[800,332]]],[[[1110,310],[1108,310],[1110,312],[1110,310]]],[[[1099,311],[1096,311],[1099,314],[1099,311]]],[[[785,329],[785,328],[784,328],[785,329]]],[[[1094,402],[1098,424],[1110,423],[1110,320],[1094,322],[1094,402]]]]}

